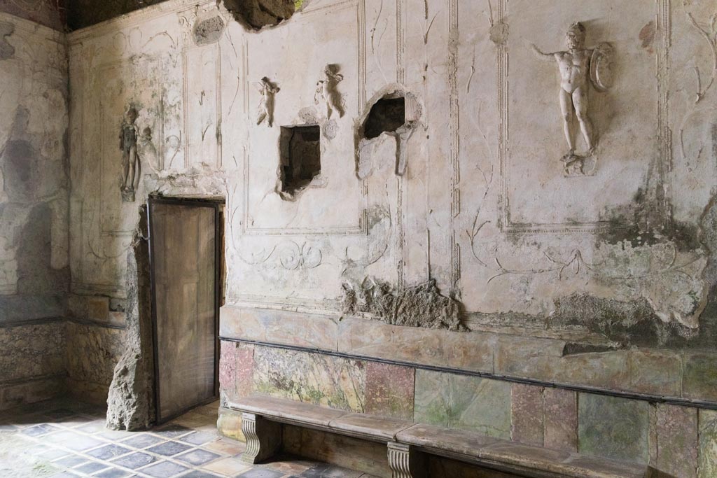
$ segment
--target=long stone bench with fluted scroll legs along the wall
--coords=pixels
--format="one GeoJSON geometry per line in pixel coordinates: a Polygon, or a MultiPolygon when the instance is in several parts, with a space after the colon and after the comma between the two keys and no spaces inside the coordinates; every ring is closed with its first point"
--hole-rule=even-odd
{"type": "Polygon", "coordinates": [[[263,462],[281,446],[282,424],[386,444],[394,478],[427,477],[427,456],[437,455],[529,478],[649,478],[645,464],[494,439],[468,431],[355,414],[268,396],[250,396],[229,408],[242,412],[245,462],[263,462]]]}

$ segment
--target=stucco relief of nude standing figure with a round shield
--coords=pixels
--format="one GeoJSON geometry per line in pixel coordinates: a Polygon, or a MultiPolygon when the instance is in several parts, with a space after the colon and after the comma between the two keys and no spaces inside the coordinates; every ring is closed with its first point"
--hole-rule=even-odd
{"type": "MultiPolygon", "coordinates": [[[[539,59],[555,61],[558,64],[560,110],[563,115],[565,139],[568,143],[568,152],[562,158],[566,176],[586,175],[588,172],[585,171],[585,163],[594,156],[597,147],[597,131],[588,113],[589,85],[592,83],[598,92],[606,92],[613,84],[612,45],[601,43],[597,47],[586,48],[585,34],[585,26],[576,21],[565,34],[568,48],[566,51],[545,53],[535,44],[531,44],[533,52],[539,59]],[[587,146],[587,151],[582,153],[576,153],[575,150],[575,118],[587,146]]],[[[595,164],[596,161],[592,163],[595,164]]]]}

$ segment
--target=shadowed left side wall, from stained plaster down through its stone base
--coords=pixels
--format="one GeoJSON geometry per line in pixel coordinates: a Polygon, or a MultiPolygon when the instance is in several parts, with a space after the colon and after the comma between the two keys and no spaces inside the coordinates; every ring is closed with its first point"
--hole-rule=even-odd
{"type": "Polygon", "coordinates": [[[64,35],[0,13],[0,408],[62,392],[67,108],[64,35]]]}

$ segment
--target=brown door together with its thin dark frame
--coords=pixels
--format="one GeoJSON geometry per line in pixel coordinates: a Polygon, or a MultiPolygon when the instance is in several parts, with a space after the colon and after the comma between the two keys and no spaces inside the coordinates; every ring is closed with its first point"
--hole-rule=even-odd
{"type": "Polygon", "coordinates": [[[222,207],[149,201],[158,423],[219,396],[222,207]]]}

